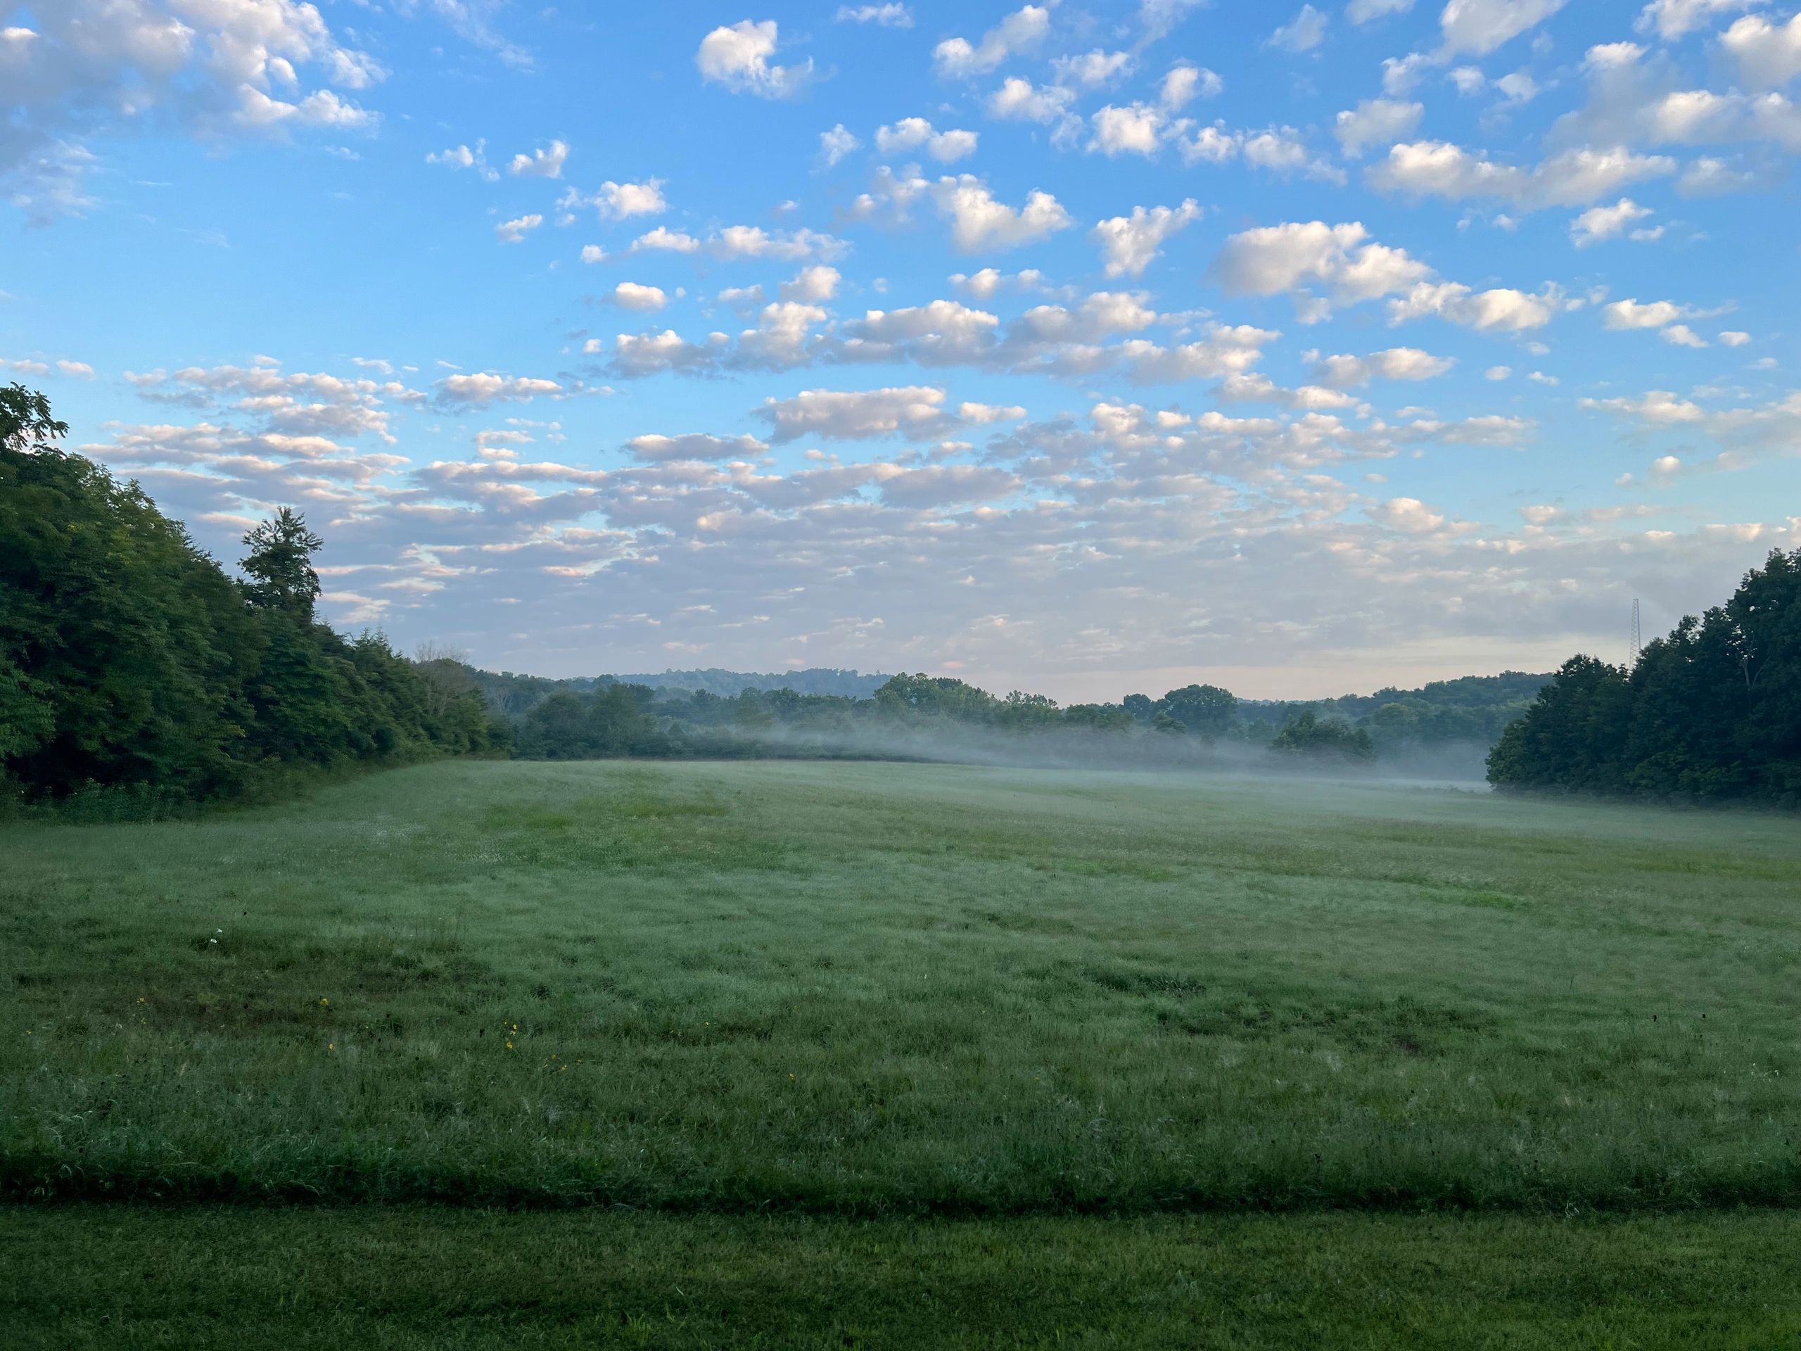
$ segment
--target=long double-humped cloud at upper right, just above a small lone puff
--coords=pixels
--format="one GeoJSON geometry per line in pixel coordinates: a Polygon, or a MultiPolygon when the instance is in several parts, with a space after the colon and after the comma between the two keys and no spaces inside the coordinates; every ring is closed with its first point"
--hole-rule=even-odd
{"type": "Polygon", "coordinates": [[[1369,182],[1410,196],[1498,198],[1524,211],[1594,202],[1626,184],[1675,173],[1668,155],[1579,148],[1522,169],[1497,164],[1448,141],[1390,146],[1389,157],[1369,169],[1369,182]]]}

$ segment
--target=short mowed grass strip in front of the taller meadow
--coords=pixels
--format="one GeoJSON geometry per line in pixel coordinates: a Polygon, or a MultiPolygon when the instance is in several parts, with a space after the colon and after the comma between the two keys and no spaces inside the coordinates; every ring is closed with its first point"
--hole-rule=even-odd
{"type": "Polygon", "coordinates": [[[9,1347],[1758,1347],[1794,1220],[0,1209],[9,1347]]]}

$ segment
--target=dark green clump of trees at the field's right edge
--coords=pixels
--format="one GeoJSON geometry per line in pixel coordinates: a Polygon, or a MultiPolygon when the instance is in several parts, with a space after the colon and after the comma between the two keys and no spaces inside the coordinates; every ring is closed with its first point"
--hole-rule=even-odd
{"type": "Polygon", "coordinates": [[[1502,789],[1801,805],[1801,549],[1637,663],[1570,657],[1488,758],[1502,789]]]}

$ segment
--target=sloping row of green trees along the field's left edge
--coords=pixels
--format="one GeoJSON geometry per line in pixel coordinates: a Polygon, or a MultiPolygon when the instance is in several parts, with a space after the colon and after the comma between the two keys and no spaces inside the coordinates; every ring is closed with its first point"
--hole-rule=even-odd
{"type": "Polygon", "coordinates": [[[319,537],[283,508],[231,576],[68,427],[0,387],[0,791],[229,798],[292,769],[504,744],[461,683],[315,616],[319,537]]]}

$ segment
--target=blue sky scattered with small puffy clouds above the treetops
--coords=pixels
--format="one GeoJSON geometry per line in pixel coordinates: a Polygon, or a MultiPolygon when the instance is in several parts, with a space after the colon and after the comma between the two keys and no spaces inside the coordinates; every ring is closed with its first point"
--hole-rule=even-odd
{"type": "Polygon", "coordinates": [[[1625,656],[1801,546],[1794,0],[0,0],[0,380],[548,676],[1625,656]]]}

